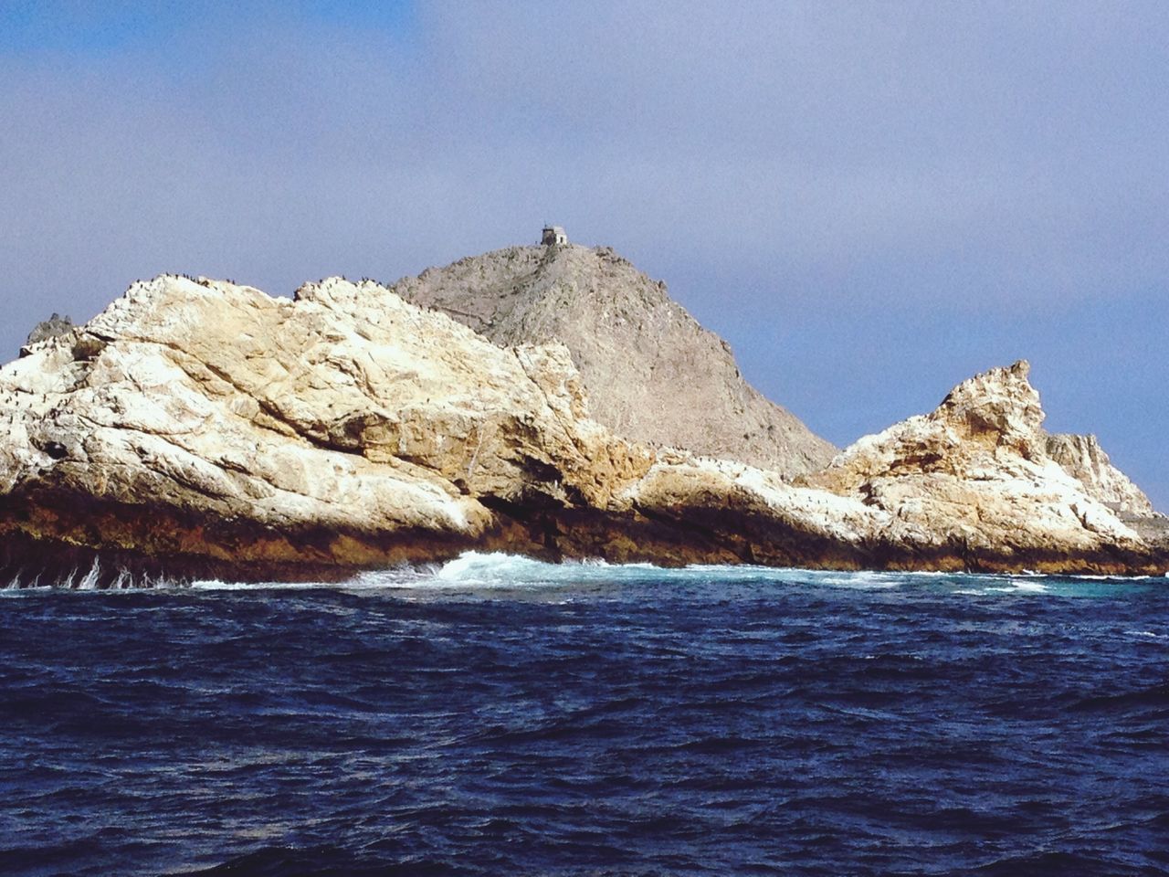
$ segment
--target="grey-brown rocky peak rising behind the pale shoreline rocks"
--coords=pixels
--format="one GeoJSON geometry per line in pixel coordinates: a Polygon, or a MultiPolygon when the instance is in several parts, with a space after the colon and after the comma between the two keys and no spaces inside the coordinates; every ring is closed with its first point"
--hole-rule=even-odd
{"type": "Polygon", "coordinates": [[[593,416],[618,436],[782,475],[815,471],[836,454],[747,384],[726,341],[673,302],[664,283],[611,249],[511,247],[392,289],[502,346],[562,343],[593,416]]]}

